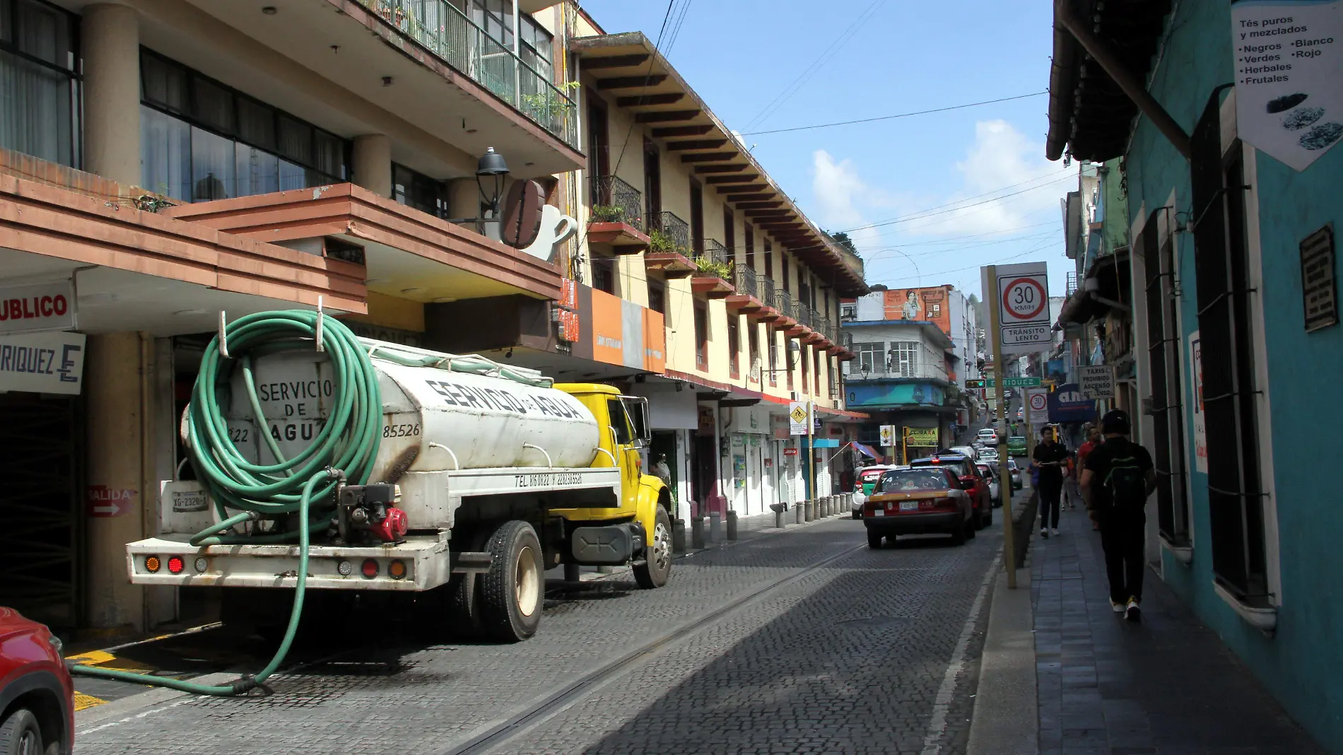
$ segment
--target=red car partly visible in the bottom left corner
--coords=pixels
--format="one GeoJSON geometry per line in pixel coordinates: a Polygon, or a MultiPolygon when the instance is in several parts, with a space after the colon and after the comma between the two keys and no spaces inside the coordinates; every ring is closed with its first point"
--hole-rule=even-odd
{"type": "Polygon", "coordinates": [[[0,607],[0,752],[68,755],[75,739],[75,688],[60,639],[13,609],[0,607]]]}

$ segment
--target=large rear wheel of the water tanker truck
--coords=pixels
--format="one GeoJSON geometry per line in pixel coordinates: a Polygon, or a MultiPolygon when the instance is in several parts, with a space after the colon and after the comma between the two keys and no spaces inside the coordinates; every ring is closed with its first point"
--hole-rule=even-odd
{"type": "Polygon", "coordinates": [[[541,623],[545,575],[541,541],[525,521],[506,521],[490,535],[485,549],[494,555],[479,576],[481,625],[490,639],[518,642],[541,623]]]}

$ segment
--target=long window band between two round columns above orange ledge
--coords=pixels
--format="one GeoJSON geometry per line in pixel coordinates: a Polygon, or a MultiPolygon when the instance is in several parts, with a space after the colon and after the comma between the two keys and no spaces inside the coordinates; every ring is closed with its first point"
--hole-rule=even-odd
{"type": "Polygon", "coordinates": [[[208,202],[349,180],[345,140],[148,50],[140,87],[150,191],[208,202]]]}

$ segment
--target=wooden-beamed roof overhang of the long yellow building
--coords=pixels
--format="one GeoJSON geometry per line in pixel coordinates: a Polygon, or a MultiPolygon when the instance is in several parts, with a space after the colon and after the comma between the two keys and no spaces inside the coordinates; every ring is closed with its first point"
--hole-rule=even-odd
{"type": "Polygon", "coordinates": [[[580,36],[569,40],[569,50],[579,56],[580,71],[596,78],[598,90],[633,113],[635,122],[647,124],[669,154],[680,156],[740,215],[771,231],[839,296],[868,293],[861,261],[807,219],[642,32],[580,36]],[[788,232],[775,234],[771,224],[788,232]]]}

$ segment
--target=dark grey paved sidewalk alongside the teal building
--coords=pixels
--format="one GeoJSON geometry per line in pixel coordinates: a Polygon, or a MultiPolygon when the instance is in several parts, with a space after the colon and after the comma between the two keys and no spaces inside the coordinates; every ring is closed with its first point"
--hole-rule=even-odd
{"type": "Polygon", "coordinates": [[[1151,571],[1143,621],[1109,607],[1100,533],[1031,539],[1041,755],[1323,752],[1151,571]]]}

